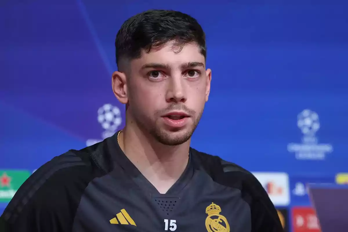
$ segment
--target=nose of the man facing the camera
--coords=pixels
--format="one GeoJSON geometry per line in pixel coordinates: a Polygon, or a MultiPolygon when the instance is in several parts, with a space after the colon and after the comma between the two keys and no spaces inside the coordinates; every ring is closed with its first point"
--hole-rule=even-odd
{"type": "Polygon", "coordinates": [[[168,82],[168,90],[166,101],[167,102],[186,102],[186,92],[184,86],[184,79],[180,77],[172,77],[171,81],[168,82]]]}

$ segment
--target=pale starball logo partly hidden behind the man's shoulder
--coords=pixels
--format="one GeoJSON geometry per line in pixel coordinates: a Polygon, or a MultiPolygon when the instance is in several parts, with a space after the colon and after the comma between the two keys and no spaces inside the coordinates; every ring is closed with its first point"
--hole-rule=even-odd
{"type": "MultiPolygon", "coordinates": [[[[116,133],[118,127],[122,123],[121,111],[118,107],[111,104],[104,104],[98,109],[98,122],[104,129],[102,133],[102,139],[108,138],[116,133]]],[[[99,143],[102,139],[88,139],[87,146],[91,146],[95,143],[99,143]]]]}

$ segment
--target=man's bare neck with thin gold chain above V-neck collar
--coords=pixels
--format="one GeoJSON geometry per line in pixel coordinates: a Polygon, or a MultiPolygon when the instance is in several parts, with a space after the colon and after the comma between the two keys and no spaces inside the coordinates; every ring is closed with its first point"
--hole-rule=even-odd
{"type": "Polygon", "coordinates": [[[187,166],[190,139],[180,145],[168,146],[139,128],[126,126],[119,141],[127,158],[160,193],[166,193],[187,166]]]}

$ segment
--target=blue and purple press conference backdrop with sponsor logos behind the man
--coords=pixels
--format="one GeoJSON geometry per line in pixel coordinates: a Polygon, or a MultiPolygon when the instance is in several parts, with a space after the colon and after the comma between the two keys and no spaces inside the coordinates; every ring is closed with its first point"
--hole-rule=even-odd
{"type": "Polygon", "coordinates": [[[318,231],[305,184],[348,173],[348,3],[337,0],[2,0],[0,212],[42,164],[124,126],[114,39],[151,8],[206,32],[212,90],[192,146],[253,171],[287,230],[318,231]]]}

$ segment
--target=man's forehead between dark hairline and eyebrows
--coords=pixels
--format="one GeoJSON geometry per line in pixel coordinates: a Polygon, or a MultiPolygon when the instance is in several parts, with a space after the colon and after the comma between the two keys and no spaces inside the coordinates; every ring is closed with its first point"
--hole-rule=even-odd
{"type": "Polygon", "coordinates": [[[146,63],[164,63],[172,67],[178,67],[188,62],[205,64],[205,58],[200,53],[200,47],[196,43],[177,46],[170,41],[160,47],[151,48],[149,52],[143,50],[141,57],[132,61],[132,66],[136,68],[142,67],[146,63]]]}

